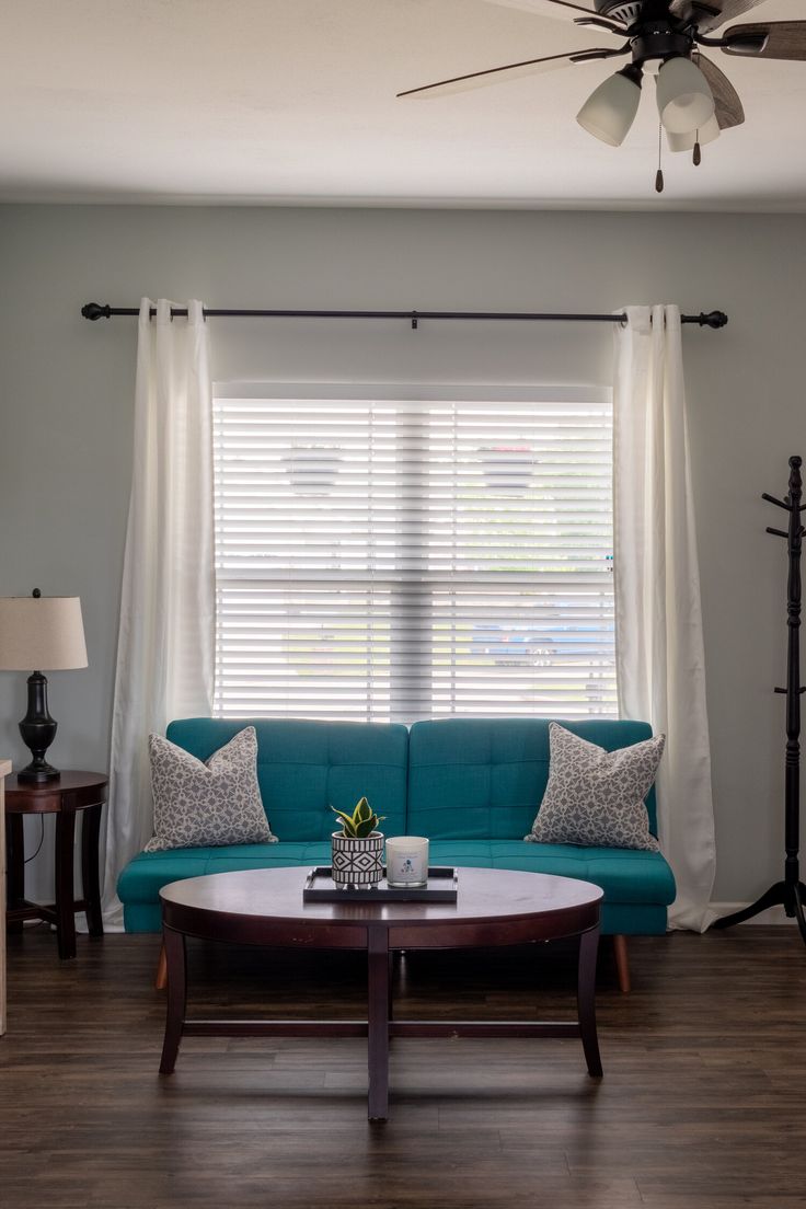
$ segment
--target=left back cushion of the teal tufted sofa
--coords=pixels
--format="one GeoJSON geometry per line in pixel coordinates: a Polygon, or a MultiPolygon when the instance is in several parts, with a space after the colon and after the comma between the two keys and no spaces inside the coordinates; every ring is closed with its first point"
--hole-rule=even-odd
{"type": "Polygon", "coordinates": [[[408,733],[404,725],[313,722],[305,718],[181,718],[168,727],[172,744],[208,759],[244,727],[257,733],[257,781],[263,808],[280,840],[330,839],[330,806],[353,810],[366,797],[382,829],[406,829],[408,733]]]}

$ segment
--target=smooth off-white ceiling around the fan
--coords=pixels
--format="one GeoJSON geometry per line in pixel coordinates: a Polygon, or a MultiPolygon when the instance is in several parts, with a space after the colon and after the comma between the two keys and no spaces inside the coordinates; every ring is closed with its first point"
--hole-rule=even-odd
{"type": "Polygon", "coordinates": [[[574,121],[620,63],[394,96],[601,45],[486,0],[1,0],[0,199],[806,209],[806,63],[712,52],[747,123],[660,198],[646,86],[622,147],[574,121]]]}

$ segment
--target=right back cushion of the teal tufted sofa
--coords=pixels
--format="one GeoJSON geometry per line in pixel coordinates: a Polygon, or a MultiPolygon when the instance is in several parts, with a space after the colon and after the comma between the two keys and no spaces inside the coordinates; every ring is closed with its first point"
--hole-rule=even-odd
{"type": "MultiPolygon", "coordinates": [[[[416,722],[408,736],[408,831],[431,839],[523,839],[549,780],[549,718],[416,722]]],[[[563,722],[607,751],[649,739],[645,722],[563,722]]],[[[655,789],[646,798],[657,834],[655,789]]]]}

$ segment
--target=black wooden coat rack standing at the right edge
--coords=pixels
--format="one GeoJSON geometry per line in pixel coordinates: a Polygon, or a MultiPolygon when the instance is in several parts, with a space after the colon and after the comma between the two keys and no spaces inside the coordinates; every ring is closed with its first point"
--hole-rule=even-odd
{"type": "Polygon", "coordinates": [[[806,916],[804,915],[804,903],[806,902],[806,886],[800,880],[798,863],[798,850],[800,844],[800,695],[806,692],[800,683],[800,553],[801,540],[806,530],[800,523],[800,514],[804,511],[801,504],[802,479],[800,467],[802,458],[789,458],[789,494],[783,499],[769,496],[766,492],[762,499],[783,508],[789,513],[788,530],[767,527],[767,533],[783,537],[787,540],[789,553],[789,575],[787,579],[787,687],[777,688],[776,693],[787,695],[787,756],[785,756],[785,781],[784,781],[784,844],[787,858],[784,861],[783,881],[776,881],[773,886],[761,895],[758,902],[744,910],[737,910],[732,915],[718,919],[714,927],[730,927],[732,924],[741,924],[746,919],[752,919],[767,907],[783,907],[789,919],[798,920],[800,935],[806,943],[806,916]]]}

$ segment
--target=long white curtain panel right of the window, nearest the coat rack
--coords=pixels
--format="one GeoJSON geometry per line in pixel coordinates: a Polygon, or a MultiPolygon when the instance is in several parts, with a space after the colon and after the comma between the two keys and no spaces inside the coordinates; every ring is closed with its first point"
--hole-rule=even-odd
{"type": "Polygon", "coordinates": [[[667,736],[657,799],[678,885],[669,926],[704,931],[715,844],[680,312],[625,312],[613,435],[619,705],[667,736]]]}

